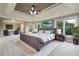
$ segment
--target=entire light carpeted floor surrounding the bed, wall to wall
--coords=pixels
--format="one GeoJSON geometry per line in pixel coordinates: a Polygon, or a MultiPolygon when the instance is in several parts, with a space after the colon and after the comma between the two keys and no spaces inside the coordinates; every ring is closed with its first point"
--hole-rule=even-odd
{"type": "Polygon", "coordinates": [[[19,36],[0,37],[0,56],[79,56],[79,45],[52,41],[37,52],[19,36]]]}

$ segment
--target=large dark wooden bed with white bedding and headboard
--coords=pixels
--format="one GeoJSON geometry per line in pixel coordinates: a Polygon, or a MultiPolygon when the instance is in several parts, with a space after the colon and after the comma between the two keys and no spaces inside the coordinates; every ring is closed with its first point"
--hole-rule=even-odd
{"type": "Polygon", "coordinates": [[[53,41],[55,38],[56,28],[39,28],[39,33],[29,33],[26,34],[20,34],[20,40],[23,42],[29,44],[33,48],[35,48],[37,51],[40,51],[40,49],[48,44],[49,42],[53,41]],[[42,33],[41,33],[42,30],[42,33]],[[45,31],[51,31],[53,33],[47,34],[44,33],[45,31]]]}

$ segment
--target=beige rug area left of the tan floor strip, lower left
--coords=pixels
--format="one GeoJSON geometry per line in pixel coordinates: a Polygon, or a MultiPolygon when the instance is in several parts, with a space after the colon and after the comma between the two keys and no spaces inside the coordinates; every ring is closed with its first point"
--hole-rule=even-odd
{"type": "Polygon", "coordinates": [[[0,56],[26,56],[27,54],[15,42],[7,41],[0,44],[0,56]]]}

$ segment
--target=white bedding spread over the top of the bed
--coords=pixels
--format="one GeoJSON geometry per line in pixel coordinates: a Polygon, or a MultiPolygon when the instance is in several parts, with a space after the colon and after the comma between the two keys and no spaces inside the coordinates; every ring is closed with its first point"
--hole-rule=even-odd
{"type": "Polygon", "coordinates": [[[30,33],[29,35],[41,38],[44,43],[54,39],[55,34],[45,34],[45,33],[30,33]]]}

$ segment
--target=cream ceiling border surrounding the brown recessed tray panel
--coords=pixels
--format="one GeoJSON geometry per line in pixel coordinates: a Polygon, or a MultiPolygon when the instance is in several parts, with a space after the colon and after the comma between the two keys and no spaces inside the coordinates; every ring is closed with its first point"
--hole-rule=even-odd
{"type": "MultiPolygon", "coordinates": [[[[51,5],[48,8],[40,8],[42,11],[38,15],[31,16],[28,13],[23,13],[18,10],[15,10],[18,6],[18,3],[0,3],[0,17],[16,19],[26,22],[37,22],[50,19],[55,20],[57,18],[79,14],[79,3],[52,3],[51,5]]],[[[41,5],[41,7],[43,6],[41,5]]],[[[19,6],[18,8],[21,8],[21,6],[19,6]]]]}

